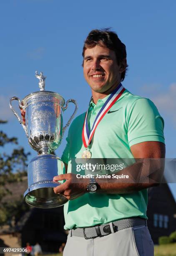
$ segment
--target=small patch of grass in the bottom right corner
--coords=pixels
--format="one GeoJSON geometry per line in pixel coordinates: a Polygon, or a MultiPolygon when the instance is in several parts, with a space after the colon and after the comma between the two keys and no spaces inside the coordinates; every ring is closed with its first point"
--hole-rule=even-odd
{"type": "Polygon", "coordinates": [[[176,243],[155,246],[155,256],[176,256],[176,243]]]}

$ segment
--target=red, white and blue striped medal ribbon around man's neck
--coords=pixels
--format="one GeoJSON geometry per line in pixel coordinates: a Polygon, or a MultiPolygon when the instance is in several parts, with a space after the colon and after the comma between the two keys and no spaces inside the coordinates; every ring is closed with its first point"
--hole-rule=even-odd
{"type": "Polygon", "coordinates": [[[83,131],[82,131],[82,139],[83,139],[83,144],[84,144],[85,148],[88,148],[88,145],[90,144],[91,139],[92,139],[101,119],[106,115],[108,110],[110,110],[110,108],[114,105],[114,103],[118,100],[118,98],[121,97],[124,90],[125,90],[125,88],[123,87],[123,85],[121,83],[118,85],[118,87],[115,90],[113,90],[111,95],[108,97],[106,102],[103,104],[103,107],[101,108],[101,110],[98,112],[96,119],[93,123],[91,131],[89,131],[89,128],[88,128],[88,122],[87,122],[88,110],[87,110],[86,115],[85,115],[84,124],[83,124],[83,131]]]}

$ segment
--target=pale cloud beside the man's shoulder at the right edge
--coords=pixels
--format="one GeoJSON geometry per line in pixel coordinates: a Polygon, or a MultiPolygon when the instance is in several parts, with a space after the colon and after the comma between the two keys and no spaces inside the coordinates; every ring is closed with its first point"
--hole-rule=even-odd
{"type": "Polygon", "coordinates": [[[159,112],[166,114],[176,125],[176,83],[170,84],[167,89],[158,84],[145,85],[142,91],[150,94],[149,98],[155,103],[159,112]],[[160,91],[157,95],[156,88],[160,91]]]}

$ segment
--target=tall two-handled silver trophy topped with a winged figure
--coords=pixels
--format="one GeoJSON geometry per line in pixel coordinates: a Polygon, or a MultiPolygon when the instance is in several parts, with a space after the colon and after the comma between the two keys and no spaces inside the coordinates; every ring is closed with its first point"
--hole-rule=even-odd
{"type": "Polygon", "coordinates": [[[33,207],[54,208],[63,205],[68,199],[61,194],[55,194],[54,187],[60,185],[53,182],[53,177],[65,173],[63,161],[53,151],[60,145],[65,129],[70,125],[77,111],[75,100],[65,100],[55,92],[45,91],[45,78],[43,73],[35,72],[40,80],[40,91],[27,95],[21,102],[18,97],[10,98],[10,108],[23,126],[30,146],[38,151],[28,165],[28,189],[24,193],[25,202],[33,207]],[[25,125],[13,109],[12,100],[18,100],[19,107],[25,110],[25,125]],[[63,127],[62,111],[68,103],[75,104],[73,115],[63,127]],[[65,107],[64,107],[65,105],[65,107]]]}

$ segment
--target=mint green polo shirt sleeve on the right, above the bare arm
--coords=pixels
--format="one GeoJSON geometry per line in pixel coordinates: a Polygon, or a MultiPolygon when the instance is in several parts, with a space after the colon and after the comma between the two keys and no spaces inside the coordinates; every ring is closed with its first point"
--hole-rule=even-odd
{"type": "Polygon", "coordinates": [[[128,144],[144,141],[164,142],[164,120],[154,103],[146,98],[139,98],[131,105],[127,117],[128,144]]]}

